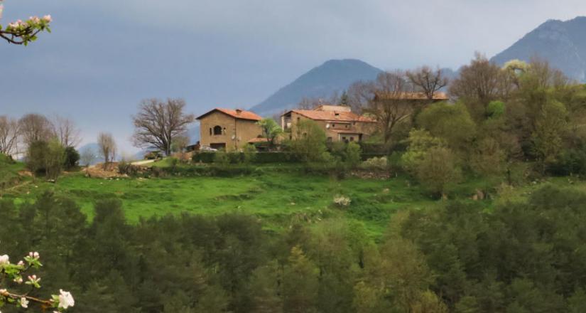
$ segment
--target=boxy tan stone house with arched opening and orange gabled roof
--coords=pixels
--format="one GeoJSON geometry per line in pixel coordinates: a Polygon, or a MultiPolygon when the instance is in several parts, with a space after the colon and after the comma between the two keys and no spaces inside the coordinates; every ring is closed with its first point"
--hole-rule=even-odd
{"type": "Polygon", "coordinates": [[[262,137],[261,120],[254,112],[215,108],[200,117],[200,145],[237,151],[252,139],[262,137]]]}

